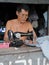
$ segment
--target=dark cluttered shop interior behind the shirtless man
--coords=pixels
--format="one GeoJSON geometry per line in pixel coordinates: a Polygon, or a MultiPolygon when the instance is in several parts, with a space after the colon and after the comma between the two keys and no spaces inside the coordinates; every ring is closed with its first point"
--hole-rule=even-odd
{"type": "MultiPolygon", "coordinates": [[[[21,3],[22,4],[22,3],[21,3]]],[[[0,40],[6,30],[6,23],[8,20],[17,18],[16,8],[20,3],[0,3],[0,40]]],[[[28,20],[32,23],[37,37],[45,36],[48,34],[48,21],[47,21],[47,4],[27,4],[30,8],[28,20]]]]}

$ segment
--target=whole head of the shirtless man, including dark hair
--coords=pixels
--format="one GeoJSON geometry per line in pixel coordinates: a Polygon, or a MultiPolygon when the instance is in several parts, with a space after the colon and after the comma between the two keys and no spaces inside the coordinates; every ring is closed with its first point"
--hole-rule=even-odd
{"type": "Polygon", "coordinates": [[[25,22],[28,18],[29,7],[27,5],[21,5],[17,8],[16,15],[18,16],[19,21],[25,22]]]}

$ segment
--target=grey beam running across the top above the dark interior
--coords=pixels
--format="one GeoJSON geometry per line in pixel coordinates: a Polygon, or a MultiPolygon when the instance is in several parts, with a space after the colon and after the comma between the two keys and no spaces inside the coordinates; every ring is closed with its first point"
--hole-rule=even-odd
{"type": "Polygon", "coordinates": [[[28,3],[28,4],[49,4],[49,0],[0,0],[0,2],[28,3]]]}

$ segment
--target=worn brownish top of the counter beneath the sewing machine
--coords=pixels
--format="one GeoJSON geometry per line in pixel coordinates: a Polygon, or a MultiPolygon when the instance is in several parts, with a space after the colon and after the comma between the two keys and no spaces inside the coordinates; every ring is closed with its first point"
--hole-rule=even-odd
{"type": "Polygon", "coordinates": [[[9,48],[3,48],[3,49],[0,49],[0,55],[8,55],[8,54],[17,54],[17,53],[29,53],[29,52],[38,52],[38,51],[41,51],[40,48],[37,48],[37,47],[28,47],[28,46],[25,46],[25,47],[9,47],[9,48]]]}

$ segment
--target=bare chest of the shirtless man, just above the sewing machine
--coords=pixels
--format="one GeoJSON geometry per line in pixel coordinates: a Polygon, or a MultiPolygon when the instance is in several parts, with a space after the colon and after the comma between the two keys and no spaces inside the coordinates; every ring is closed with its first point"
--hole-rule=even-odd
{"type": "Polygon", "coordinates": [[[11,26],[11,30],[13,32],[27,32],[28,31],[28,26],[25,24],[15,24],[11,26]]]}

